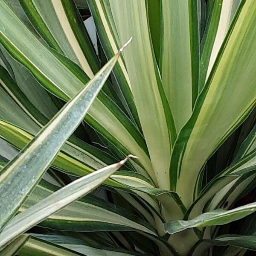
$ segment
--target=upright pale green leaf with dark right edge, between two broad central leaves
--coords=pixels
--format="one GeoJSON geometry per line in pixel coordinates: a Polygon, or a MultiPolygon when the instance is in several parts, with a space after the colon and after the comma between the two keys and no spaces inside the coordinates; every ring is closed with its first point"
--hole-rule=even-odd
{"type": "Polygon", "coordinates": [[[177,131],[192,113],[198,95],[199,32],[196,1],[162,0],[160,72],[177,131]],[[195,2],[195,3],[193,3],[195,2]]]}

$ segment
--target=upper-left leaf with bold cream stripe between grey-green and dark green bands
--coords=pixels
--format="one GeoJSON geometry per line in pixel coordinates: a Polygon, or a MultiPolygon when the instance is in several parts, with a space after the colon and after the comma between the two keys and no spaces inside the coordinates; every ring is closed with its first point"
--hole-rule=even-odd
{"type": "Polygon", "coordinates": [[[20,0],[20,4],[49,46],[79,64],[91,79],[99,63],[73,1],[20,0]]]}

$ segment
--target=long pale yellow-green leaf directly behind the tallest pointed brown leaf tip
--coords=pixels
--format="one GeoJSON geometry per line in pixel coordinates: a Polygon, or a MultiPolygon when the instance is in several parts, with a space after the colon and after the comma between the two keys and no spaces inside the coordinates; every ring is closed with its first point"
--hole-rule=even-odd
{"type": "Polygon", "coordinates": [[[110,0],[109,4],[119,42],[133,36],[133,48],[123,55],[125,66],[158,186],[169,189],[169,159],[176,131],[152,48],[146,1],[110,0]]]}

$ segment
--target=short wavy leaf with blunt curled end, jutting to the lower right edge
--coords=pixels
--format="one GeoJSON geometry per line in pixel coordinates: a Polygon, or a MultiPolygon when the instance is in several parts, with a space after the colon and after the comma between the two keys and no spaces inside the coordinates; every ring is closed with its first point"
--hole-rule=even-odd
{"type": "Polygon", "coordinates": [[[169,221],[164,224],[165,230],[170,235],[192,227],[208,227],[224,225],[239,220],[247,215],[256,212],[256,202],[237,207],[232,210],[216,209],[212,212],[205,212],[189,221],[169,221]]]}

